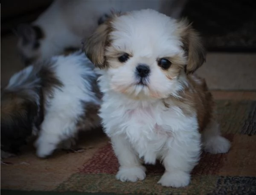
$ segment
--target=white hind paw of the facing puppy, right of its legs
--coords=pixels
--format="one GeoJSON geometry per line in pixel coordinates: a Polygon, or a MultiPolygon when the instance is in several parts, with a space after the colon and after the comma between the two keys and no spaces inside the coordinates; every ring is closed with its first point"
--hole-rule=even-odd
{"type": "Polygon", "coordinates": [[[204,143],[204,150],[208,153],[227,153],[230,149],[230,141],[221,136],[215,136],[204,143]]]}

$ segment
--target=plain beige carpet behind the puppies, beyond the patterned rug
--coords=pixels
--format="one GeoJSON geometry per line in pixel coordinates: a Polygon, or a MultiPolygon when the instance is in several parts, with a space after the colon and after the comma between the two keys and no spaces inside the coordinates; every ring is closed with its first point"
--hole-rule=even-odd
{"type": "MultiPolygon", "coordinates": [[[[16,50],[16,37],[1,37],[1,86],[23,68],[16,50]]],[[[198,74],[211,90],[256,90],[256,54],[208,53],[198,74]]]]}

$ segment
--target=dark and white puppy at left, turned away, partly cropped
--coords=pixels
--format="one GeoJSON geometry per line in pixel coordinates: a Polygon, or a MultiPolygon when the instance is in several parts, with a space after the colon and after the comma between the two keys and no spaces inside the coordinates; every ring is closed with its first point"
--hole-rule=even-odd
{"type": "Polygon", "coordinates": [[[100,125],[97,74],[84,54],[52,57],[15,73],[1,89],[1,158],[38,135],[37,155],[73,144],[79,130],[100,125]]]}

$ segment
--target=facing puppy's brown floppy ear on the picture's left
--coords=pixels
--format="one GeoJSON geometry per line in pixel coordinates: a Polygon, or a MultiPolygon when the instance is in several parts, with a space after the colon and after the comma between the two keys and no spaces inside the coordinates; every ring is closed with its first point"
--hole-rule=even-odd
{"type": "Polygon", "coordinates": [[[105,47],[109,45],[108,34],[111,32],[110,23],[105,22],[87,39],[83,40],[83,51],[98,68],[105,68],[105,47]]]}

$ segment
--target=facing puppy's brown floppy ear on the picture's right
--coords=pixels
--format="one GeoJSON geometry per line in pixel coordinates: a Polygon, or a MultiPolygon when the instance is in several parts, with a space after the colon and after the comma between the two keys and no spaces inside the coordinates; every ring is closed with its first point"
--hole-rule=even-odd
{"type": "Polygon", "coordinates": [[[189,24],[187,20],[181,20],[178,25],[178,33],[181,35],[183,49],[187,55],[185,72],[193,73],[205,62],[206,51],[199,34],[192,28],[192,24],[189,24]]]}

